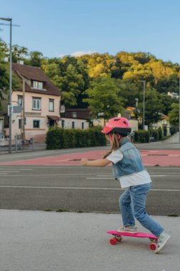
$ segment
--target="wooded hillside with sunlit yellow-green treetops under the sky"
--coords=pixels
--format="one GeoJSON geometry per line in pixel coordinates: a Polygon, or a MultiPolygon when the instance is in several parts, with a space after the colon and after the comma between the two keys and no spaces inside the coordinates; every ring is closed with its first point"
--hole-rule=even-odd
{"type": "MultiPolygon", "coordinates": [[[[9,64],[4,58],[9,55],[8,45],[0,40],[0,96],[9,88],[9,64]]],[[[14,62],[23,60],[25,65],[43,69],[61,93],[65,108],[90,107],[92,115],[105,113],[111,118],[121,113],[127,106],[137,106],[136,117],[142,116],[143,86],[145,90],[145,122],[157,122],[162,114],[169,115],[173,126],[178,126],[179,100],[167,96],[168,92],[179,93],[178,63],[162,61],[151,53],[118,52],[92,53],[79,57],[46,58],[39,51],[14,45],[14,62]]],[[[13,89],[18,86],[16,76],[13,89]]]]}

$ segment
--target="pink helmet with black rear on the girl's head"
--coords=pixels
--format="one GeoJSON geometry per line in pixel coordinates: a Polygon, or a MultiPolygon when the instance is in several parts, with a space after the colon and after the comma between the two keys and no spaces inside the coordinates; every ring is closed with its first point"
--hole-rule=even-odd
{"type": "Polygon", "coordinates": [[[131,124],[127,118],[116,117],[111,118],[102,130],[102,133],[122,133],[127,136],[127,133],[131,131],[131,124]]]}

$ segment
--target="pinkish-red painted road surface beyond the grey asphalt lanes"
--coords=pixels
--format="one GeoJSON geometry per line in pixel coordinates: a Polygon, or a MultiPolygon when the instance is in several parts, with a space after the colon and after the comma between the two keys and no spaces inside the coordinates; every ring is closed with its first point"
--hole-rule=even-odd
{"type": "MultiPolygon", "coordinates": [[[[80,165],[80,159],[102,158],[106,150],[90,150],[84,153],[70,153],[28,160],[16,160],[0,165],[80,165]]],[[[180,150],[140,150],[145,166],[180,166],[180,150]]]]}

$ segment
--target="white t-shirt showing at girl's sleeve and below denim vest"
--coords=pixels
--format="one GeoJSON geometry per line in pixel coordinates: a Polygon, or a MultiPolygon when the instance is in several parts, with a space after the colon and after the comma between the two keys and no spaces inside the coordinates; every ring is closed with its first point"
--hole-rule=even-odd
{"type": "MultiPolygon", "coordinates": [[[[116,164],[120,162],[123,158],[123,153],[120,150],[114,150],[110,155],[107,156],[107,160],[116,164]]],[[[120,180],[120,185],[122,188],[129,188],[129,186],[134,185],[144,185],[145,183],[152,183],[152,180],[147,173],[147,170],[142,170],[137,173],[132,173],[129,175],[124,175],[117,177],[116,180],[120,180]]]]}

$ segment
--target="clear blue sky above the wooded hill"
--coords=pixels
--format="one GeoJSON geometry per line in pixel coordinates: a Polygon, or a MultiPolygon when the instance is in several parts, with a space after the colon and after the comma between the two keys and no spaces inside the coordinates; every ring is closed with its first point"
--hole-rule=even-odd
{"type": "Polygon", "coordinates": [[[20,25],[12,44],[48,58],[143,51],[180,63],[179,0],[0,0],[0,17],[20,25]]]}

